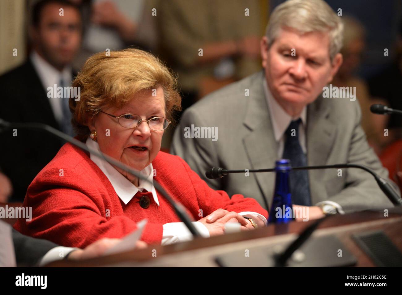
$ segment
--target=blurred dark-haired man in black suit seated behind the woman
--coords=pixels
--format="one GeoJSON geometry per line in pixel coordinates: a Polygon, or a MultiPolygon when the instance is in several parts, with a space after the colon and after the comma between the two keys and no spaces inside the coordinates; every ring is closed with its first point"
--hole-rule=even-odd
{"type": "MultiPolygon", "coordinates": [[[[73,79],[70,64],[80,47],[81,22],[78,7],[66,0],[36,2],[29,28],[33,50],[23,65],[0,77],[0,118],[74,134],[68,98],[65,92],[54,97],[53,88],[68,87],[73,79]]],[[[28,185],[62,142],[36,130],[7,130],[0,136],[0,167],[12,181],[11,201],[23,201],[28,185]]]]}

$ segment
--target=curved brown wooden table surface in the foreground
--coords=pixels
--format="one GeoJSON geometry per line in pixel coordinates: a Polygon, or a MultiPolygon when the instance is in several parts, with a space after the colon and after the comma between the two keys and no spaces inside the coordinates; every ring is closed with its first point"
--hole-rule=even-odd
{"type": "MultiPolygon", "coordinates": [[[[197,238],[167,246],[149,245],[142,250],[103,256],[81,261],[56,261],[51,267],[100,267],[100,266],[180,266],[216,267],[214,258],[219,254],[249,248],[250,246],[273,247],[286,245],[297,238],[307,226],[315,222],[291,222],[290,224],[270,224],[266,228],[253,231],[197,238]],[[154,254],[154,255],[153,255],[154,254]],[[156,254],[156,256],[155,256],[156,254]]],[[[351,238],[352,234],[371,230],[383,230],[392,242],[402,251],[402,207],[392,208],[389,216],[384,212],[364,211],[346,215],[330,216],[324,220],[312,237],[336,236],[357,258],[357,267],[375,266],[371,259],[351,238]]]]}

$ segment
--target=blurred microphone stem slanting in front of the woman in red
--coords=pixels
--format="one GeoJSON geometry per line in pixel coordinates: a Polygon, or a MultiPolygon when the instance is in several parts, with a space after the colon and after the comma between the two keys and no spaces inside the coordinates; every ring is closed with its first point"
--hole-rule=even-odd
{"type": "Polygon", "coordinates": [[[10,129],[10,128],[45,130],[46,132],[49,132],[53,136],[56,136],[57,138],[62,138],[64,140],[66,140],[67,142],[70,142],[71,144],[78,146],[80,149],[83,149],[84,151],[87,151],[88,153],[91,153],[91,154],[95,155],[96,157],[103,159],[103,160],[107,161],[108,163],[115,165],[116,167],[119,167],[120,169],[134,175],[135,177],[138,177],[139,179],[142,179],[150,184],[153,184],[155,189],[160,191],[160,193],[172,205],[177,216],[180,218],[181,221],[184,222],[184,224],[187,226],[187,228],[189,229],[191,234],[193,234],[194,237],[201,237],[201,234],[198,232],[198,230],[195,228],[195,226],[191,223],[191,219],[189,218],[189,216],[187,216],[187,213],[186,213],[183,205],[180,203],[176,203],[157,181],[154,180],[152,182],[152,181],[148,180],[147,177],[143,176],[138,171],[131,169],[127,165],[113,159],[112,157],[109,157],[108,155],[106,155],[102,152],[88,148],[88,146],[86,146],[86,144],[84,144],[80,140],[77,140],[49,125],[41,124],[41,123],[10,123],[10,122],[4,121],[0,118],[0,132],[4,131],[6,129],[10,129]]]}

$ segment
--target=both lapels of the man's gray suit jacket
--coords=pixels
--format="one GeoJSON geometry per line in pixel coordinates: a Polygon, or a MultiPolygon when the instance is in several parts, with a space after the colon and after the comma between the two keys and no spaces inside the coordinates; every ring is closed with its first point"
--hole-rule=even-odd
{"type": "MultiPolygon", "coordinates": [[[[252,169],[273,168],[275,160],[278,158],[278,144],[273,134],[271,116],[263,90],[263,79],[265,77],[261,71],[254,83],[250,85],[250,102],[243,121],[247,128],[247,132],[243,136],[243,145],[252,169]]],[[[307,109],[308,165],[325,165],[327,163],[336,132],[336,124],[330,120],[328,104],[320,96],[308,105],[307,109]]],[[[275,175],[273,173],[253,173],[253,175],[261,193],[271,203],[275,175]]],[[[323,175],[322,170],[309,171],[310,194],[313,203],[316,202],[314,196],[326,196],[327,194],[324,183],[320,181],[323,175]]]]}

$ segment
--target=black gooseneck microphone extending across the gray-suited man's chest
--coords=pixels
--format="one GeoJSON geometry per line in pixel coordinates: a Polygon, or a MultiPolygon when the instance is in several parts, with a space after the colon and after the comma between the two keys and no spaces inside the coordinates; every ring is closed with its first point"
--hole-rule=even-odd
{"type": "MultiPolygon", "coordinates": [[[[402,199],[396,193],[396,191],[392,188],[392,186],[382,177],[377,175],[373,170],[370,168],[359,165],[359,164],[335,164],[335,165],[321,165],[321,166],[304,166],[304,167],[291,167],[292,170],[313,170],[313,169],[331,169],[331,168],[359,168],[367,171],[371,175],[373,175],[375,181],[377,182],[381,191],[390,199],[390,201],[394,205],[402,205],[402,199]]],[[[268,169],[249,169],[248,172],[274,172],[275,168],[268,168],[268,169]]],[[[207,172],[205,172],[205,176],[209,179],[217,179],[228,175],[229,173],[244,173],[245,169],[243,170],[228,170],[220,167],[212,167],[207,172]]]]}

